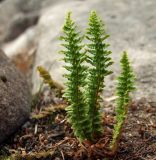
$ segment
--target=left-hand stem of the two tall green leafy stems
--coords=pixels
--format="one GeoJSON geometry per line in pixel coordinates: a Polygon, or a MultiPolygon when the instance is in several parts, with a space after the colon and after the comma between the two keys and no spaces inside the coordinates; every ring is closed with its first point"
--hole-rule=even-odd
{"type": "Polygon", "coordinates": [[[74,134],[82,141],[90,136],[91,130],[83,95],[87,67],[83,64],[86,59],[83,45],[81,45],[83,36],[77,31],[77,26],[71,19],[71,12],[67,14],[63,33],[64,35],[60,39],[64,41],[62,46],[65,49],[61,53],[65,56],[64,61],[67,64],[65,69],[68,71],[68,74],[64,75],[68,80],[64,97],[70,104],[66,108],[67,118],[72,125],[74,134]]]}

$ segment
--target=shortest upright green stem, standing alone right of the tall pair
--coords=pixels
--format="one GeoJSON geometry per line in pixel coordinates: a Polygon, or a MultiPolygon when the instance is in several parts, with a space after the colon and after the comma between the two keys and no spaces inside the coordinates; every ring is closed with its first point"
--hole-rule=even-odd
{"type": "Polygon", "coordinates": [[[118,77],[118,85],[116,88],[116,93],[118,96],[116,100],[116,124],[114,125],[113,140],[111,142],[111,149],[113,152],[115,152],[117,149],[122,127],[127,117],[128,104],[130,101],[130,92],[135,89],[135,76],[126,52],[123,52],[120,63],[122,72],[121,75],[118,77]]]}

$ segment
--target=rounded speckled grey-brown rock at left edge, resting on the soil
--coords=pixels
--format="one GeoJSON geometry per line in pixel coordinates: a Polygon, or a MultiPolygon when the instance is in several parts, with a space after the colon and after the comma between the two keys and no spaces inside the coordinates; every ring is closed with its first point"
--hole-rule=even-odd
{"type": "Polygon", "coordinates": [[[0,50],[0,143],[28,119],[30,103],[25,77],[0,50]]]}

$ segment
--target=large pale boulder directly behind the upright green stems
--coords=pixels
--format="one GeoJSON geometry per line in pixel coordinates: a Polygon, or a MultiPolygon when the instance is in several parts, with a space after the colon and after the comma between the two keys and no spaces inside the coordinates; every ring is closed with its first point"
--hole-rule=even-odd
{"type": "Polygon", "coordinates": [[[58,37],[64,23],[67,11],[73,11],[73,19],[79,24],[79,29],[85,32],[88,14],[97,10],[106,24],[110,34],[112,58],[115,61],[112,70],[114,74],[106,80],[105,94],[114,94],[116,76],[120,72],[119,60],[123,50],[129,52],[130,59],[137,77],[136,98],[152,96],[156,98],[156,32],[155,32],[155,0],[85,0],[68,2],[59,1],[46,9],[39,20],[38,47],[33,70],[33,91],[40,86],[40,77],[36,71],[38,65],[50,69],[52,77],[60,85],[65,79],[63,74],[62,56],[58,53],[60,45],[58,37]]]}

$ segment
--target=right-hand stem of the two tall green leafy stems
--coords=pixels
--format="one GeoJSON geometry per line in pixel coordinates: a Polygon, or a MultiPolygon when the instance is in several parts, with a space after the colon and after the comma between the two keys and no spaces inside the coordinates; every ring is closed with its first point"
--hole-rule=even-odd
{"type": "Polygon", "coordinates": [[[105,77],[112,73],[112,71],[108,69],[113,63],[110,58],[111,51],[107,49],[109,45],[105,42],[108,37],[109,36],[105,33],[102,20],[97,16],[95,11],[92,11],[86,34],[86,38],[89,41],[87,44],[87,62],[91,66],[88,69],[89,75],[86,89],[86,101],[92,137],[102,133],[100,115],[101,93],[105,86],[105,77]]]}

